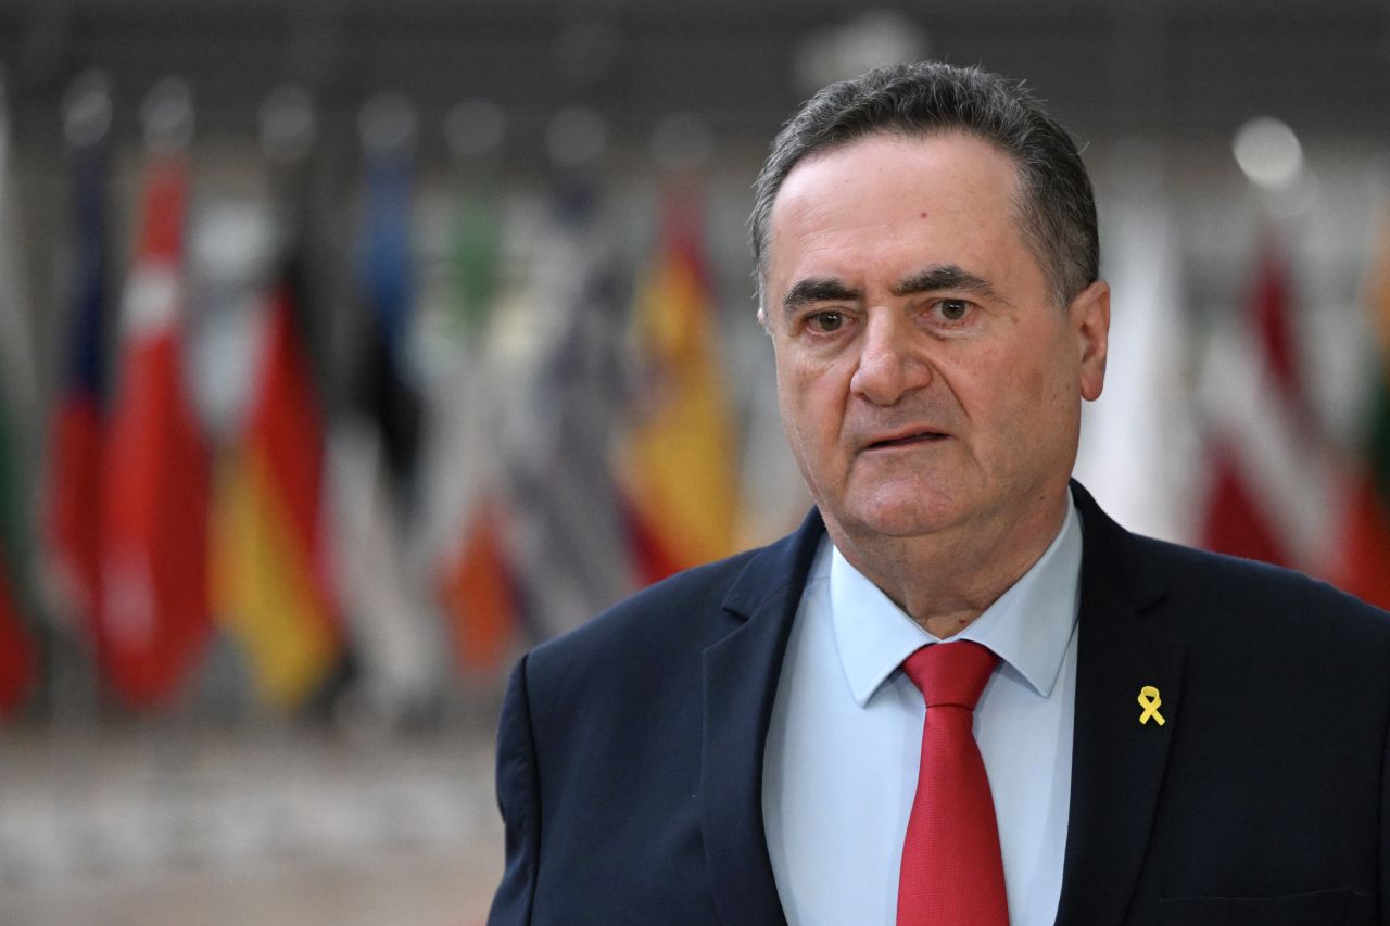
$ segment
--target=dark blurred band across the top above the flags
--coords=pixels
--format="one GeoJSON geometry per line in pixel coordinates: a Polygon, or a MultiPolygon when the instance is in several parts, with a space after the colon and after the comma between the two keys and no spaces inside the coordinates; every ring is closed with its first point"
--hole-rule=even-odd
{"type": "MultiPolygon", "coordinates": [[[[31,136],[56,136],[63,89],[97,65],[113,78],[120,131],[133,132],[140,96],[178,74],[192,83],[199,131],[214,135],[253,131],[260,101],[300,81],[345,120],[393,90],[427,121],[464,97],[493,100],[523,139],[582,104],[620,139],[687,111],[724,143],[762,146],[805,96],[798,70],[851,42],[844,26],[859,10],[848,0],[0,0],[0,64],[18,133],[31,136]]],[[[1268,113],[1301,132],[1377,142],[1390,122],[1390,4],[1373,0],[938,0],[895,13],[909,47],[1027,79],[1087,138],[1227,138],[1268,113]]]]}

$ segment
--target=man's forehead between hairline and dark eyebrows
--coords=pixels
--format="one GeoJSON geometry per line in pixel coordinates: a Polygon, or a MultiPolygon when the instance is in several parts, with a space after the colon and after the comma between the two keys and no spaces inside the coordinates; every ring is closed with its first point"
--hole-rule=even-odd
{"type": "MultiPolygon", "coordinates": [[[[769,222],[769,271],[788,260],[847,246],[917,246],[970,252],[1022,247],[1015,220],[1017,170],[972,135],[870,135],[799,163],[787,175],[769,222]]],[[[947,254],[941,254],[942,257],[947,254]]]]}

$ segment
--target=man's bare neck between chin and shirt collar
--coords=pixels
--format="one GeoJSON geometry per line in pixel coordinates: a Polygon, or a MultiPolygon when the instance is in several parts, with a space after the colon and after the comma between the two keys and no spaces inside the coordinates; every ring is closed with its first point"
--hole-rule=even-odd
{"type": "Polygon", "coordinates": [[[1066,520],[1070,491],[1023,517],[958,526],[916,537],[845,531],[827,519],[826,530],[851,566],[933,637],[945,640],[969,627],[1029,571],[1066,520]]]}

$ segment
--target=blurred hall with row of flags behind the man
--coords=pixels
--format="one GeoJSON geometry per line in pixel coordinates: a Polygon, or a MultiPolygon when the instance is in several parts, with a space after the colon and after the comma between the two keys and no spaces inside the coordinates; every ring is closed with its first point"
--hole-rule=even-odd
{"type": "Polygon", "coordinates": [[[525,648],[808,499],[749,186],[924,56],[1080,139],[1080,478],[1390,605],[1390,7],[0,0],[0,922],[478,923],[525,648]]]}

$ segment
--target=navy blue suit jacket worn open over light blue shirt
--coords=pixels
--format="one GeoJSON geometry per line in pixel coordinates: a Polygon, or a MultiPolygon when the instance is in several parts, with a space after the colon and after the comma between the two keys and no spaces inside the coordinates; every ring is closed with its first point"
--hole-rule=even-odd
{"type": "MultiPolygon", "coordinates": [[[[1056,922],[1390,923],[1390,616],[1291,571],[1084,526],[1056,922]],[[1140,724],[1161,691],[1163,726],[1140,724]]],[[[762,815],[783,652],[824,527],[538,647],[498,734],[489,923],[784,922],[762,815]]]]}

